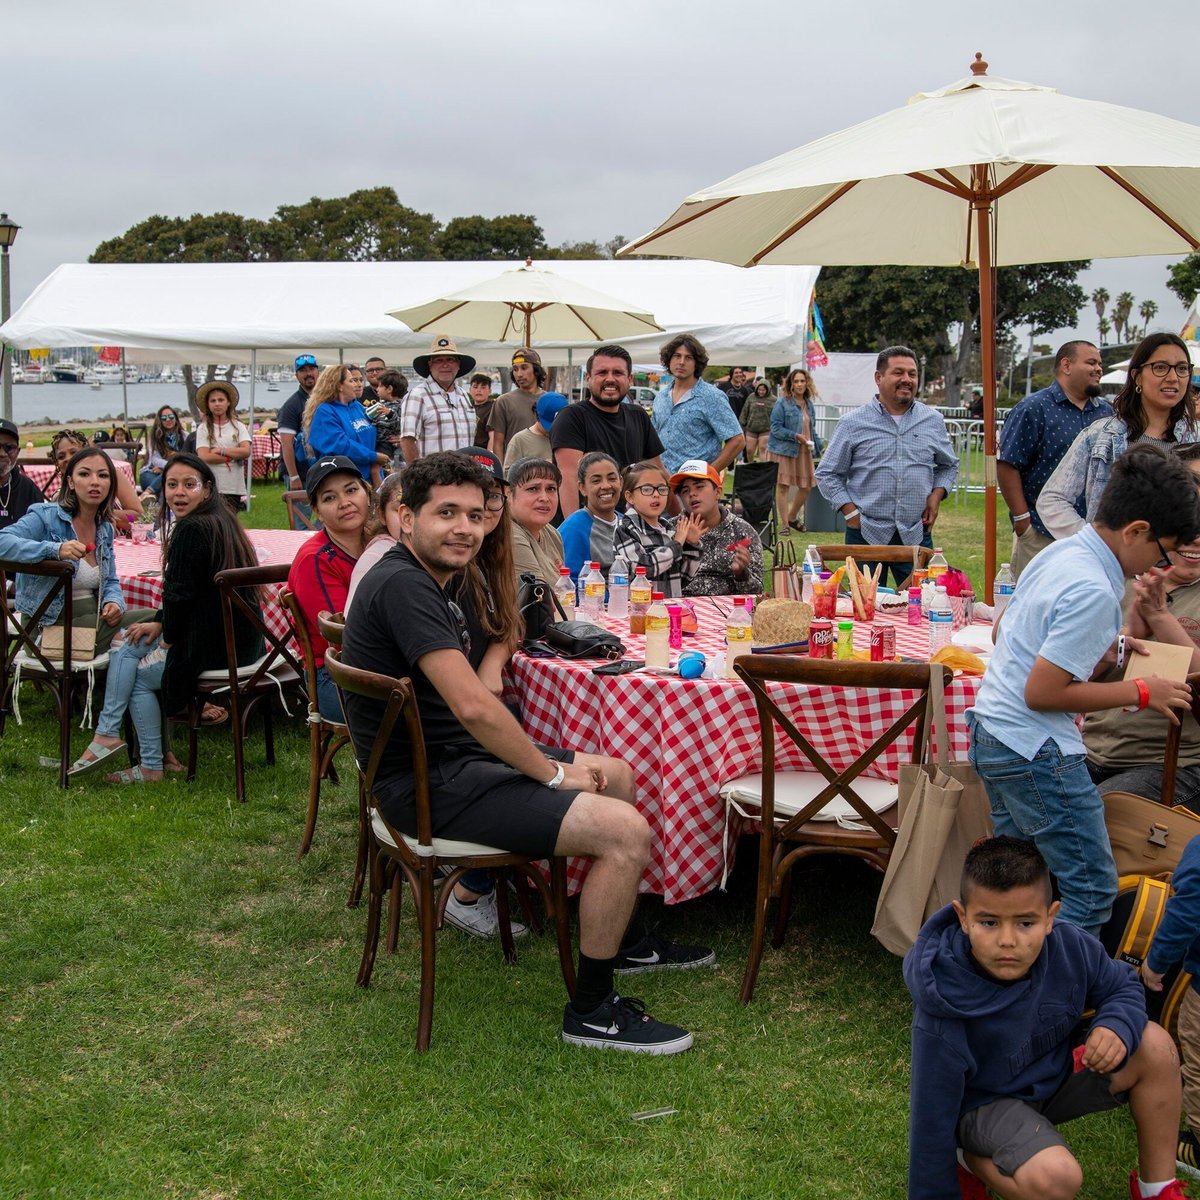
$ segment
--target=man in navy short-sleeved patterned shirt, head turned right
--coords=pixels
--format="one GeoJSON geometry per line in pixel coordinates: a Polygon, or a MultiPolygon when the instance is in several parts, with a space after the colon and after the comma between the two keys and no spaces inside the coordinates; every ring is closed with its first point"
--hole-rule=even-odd
{"type": "MultiPolygon", "coordinates": [[[[1072,442],[1092,421],[1112,415],[1100,398],[1100,352],[1091,342],[1067,342],[1054,356],[1054,383],[1026,396],[1006,418],[996,482],[1013,522],[1013,576],[1054,541],[1038,516],[1038,497],[1072,442]]],[[[1084,517],[1084,498],[1075,508],[1084,517]]]]}

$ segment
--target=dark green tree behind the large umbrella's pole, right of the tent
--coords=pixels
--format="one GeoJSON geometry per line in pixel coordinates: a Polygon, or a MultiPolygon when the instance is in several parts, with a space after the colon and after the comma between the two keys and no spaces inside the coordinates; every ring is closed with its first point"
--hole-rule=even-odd
{"type": "MultiPolygon", "coordinates": [[[[1014,326],[1074,325],[1087,294],[1076,282],[1086,262],[1034,263],[996,272],[996,338],[1014,326]]],[[[878,350],[902,343],[946,376],[947,401],[979,352],[979,276],[934,266],[828,266],[817,300],[829,348],[878,350]]],[[[930,370],[928,373],[936,373],[930,370]]]]}

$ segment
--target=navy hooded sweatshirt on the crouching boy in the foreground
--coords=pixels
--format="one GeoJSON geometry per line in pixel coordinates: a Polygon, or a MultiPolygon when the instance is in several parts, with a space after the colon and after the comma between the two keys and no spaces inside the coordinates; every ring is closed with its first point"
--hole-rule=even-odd
{"type": "Polygon", "coordinates": [[[1092,1026],[1111,1030],[1129,1054],[1146,1027],[1133,967],[1061,922],[1024,979],[995,983],[974,966],[971,942],[947,905],[905,955],[904,978],[913,1000],[910,1200],[960,1200],[959,1117],[1003,1097],[1050,1099],[1070,1074],[1070,1033],[1087,1009],[1096,1009],[1092,1026]]]}

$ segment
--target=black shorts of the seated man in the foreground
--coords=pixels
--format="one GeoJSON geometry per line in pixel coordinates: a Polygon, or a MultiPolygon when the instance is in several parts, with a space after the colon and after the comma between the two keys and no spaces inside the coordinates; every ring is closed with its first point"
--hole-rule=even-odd
{"type": "MultiPolygon", "coordinates": [[[[539,746],[558,762],[574,762],[574,750],[539,746]]],[[[376,788],[389,823],[416,836],[413,779],[406,775],[376,788]]],[[[475,841],[514,854],[550,858],[558,830],[577,791],[557,792],[532,780],[482,746],[463,746],[430,764],[430,811],[433,836],[475,841]]]]}

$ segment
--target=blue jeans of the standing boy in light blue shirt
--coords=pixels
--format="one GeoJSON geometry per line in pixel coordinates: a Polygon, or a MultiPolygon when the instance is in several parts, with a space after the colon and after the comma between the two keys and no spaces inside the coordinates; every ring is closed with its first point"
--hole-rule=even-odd
{"type": "Polygon", "coordinates": [[[988,788],[997,835],[1032,841],[1058,881],[1061,920],[1098,934],[1112,912],[1117,869],[1104,802],[1085,755],[1064,755],[1052,738],[1033,762],[994,738],[967,714],[971,764],[988,788]]]}

